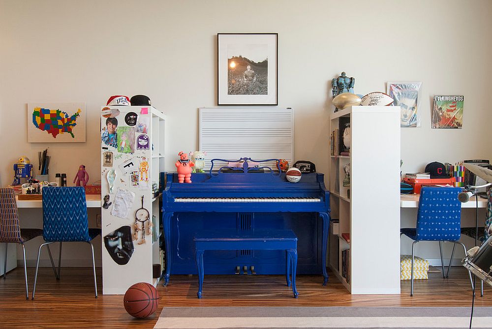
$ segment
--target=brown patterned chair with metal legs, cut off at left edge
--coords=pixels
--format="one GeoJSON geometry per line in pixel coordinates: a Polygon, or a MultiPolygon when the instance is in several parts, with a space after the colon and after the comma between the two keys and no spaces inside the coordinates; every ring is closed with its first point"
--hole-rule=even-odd
{"type": "MultiPolygon", "coordinates": [[[[15,200],[14,190],[11,188],[0,188],[0,242],[5,243],[5,267],[3,272],[3,279],[7,278],[7,246],[9,243],[20,243],[22,245],[22,251],[24,254],[24,278],[26,280],[26,299],[29,299],[28,291],[28,273],[26,269],[26,248],[24,243],[39,237],[43,234],[43,230],[40,229],[21,229],[19,224],[19,213],[17,211],[17,202],[15,200]]],[[[55,269],[53,263],[53,257],[51,257],[51,264],[55,269]]]]}

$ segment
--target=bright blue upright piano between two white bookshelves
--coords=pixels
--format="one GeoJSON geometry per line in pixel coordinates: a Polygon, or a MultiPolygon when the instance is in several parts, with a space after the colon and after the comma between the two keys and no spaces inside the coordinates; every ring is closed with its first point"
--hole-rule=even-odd
{"type": "MultiPolygon", "coordinates": [[[[243,168],[192,174],[191,183],[179,183],[176,173],[167,174],[162,191],[164,285],[170,274],[197,274],[196,232],[222,229],[294,231],[297,273],[322,274],[326,284],[330,195],[324,175],[303,174],[291,183],[284,173],[244,163],[243,168]]],[[[204,259],[206,274],[285,274],[285,252],[280,250],[207,250],[204,259]]]]}

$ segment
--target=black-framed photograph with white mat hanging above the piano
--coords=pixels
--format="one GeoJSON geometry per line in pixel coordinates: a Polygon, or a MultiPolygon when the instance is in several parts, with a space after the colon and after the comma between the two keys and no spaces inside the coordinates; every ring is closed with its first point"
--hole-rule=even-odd
{"type": "Polygon", "coordinates": [[[277,105],[278,33],[218,33],[218,105],[277,105]]]}

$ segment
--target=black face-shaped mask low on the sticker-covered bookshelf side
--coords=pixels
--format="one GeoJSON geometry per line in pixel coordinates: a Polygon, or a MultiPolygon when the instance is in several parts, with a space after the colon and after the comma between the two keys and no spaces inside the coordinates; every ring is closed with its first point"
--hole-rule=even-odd
{"type": "Polygon", "coordinates": [[[118,265],[125,265],[133,254],[133,241],[131,239],[131,228],[122,226],[104,237],[104,245],[111,258],[118,265]]]}

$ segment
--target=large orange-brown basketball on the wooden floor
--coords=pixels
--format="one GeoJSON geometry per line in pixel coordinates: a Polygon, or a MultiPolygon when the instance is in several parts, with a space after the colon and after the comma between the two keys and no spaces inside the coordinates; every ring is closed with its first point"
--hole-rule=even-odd
{"type": "Polygon", "coordinates": [[[146,318],[157,309],[159,294],[153,285],[139,282],[132,285],[123,297],[126,312],[135,318],[146,318]]]}

